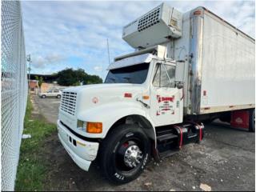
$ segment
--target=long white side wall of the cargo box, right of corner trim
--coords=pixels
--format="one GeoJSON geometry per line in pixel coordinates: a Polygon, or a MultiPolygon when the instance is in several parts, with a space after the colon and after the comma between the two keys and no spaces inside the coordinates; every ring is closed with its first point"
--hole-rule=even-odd
{"type": "Polygon", "coordinates": [[[203,19],[200,114],[251,108],[255,98],[254,40],[208,11],[203,19]]]}

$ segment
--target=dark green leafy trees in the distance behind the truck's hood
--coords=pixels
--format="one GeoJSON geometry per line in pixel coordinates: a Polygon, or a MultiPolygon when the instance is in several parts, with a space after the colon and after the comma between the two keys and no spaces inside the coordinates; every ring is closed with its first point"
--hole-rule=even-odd
{"type": "Polygon", "coordinates": [[[86,74],[82,69],[66,68],[58,72],[58,84],[61,86],[78,86],[80,82],[84,84],[102,83],[102,78],[98,75],[86,74]]]}

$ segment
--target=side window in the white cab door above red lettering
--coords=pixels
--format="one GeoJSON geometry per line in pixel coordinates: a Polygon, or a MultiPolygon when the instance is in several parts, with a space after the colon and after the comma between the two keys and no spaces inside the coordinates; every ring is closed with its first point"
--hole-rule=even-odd
{"type": "Polygon", "coordinates": [[[158,64],[154,73],[153,86],[158,87],[174,87],[175,67],[158,64]],[[166,74],[166,71],[169,75],[166,74]],[[171,81],[171,82],[170,82],[171,81]]]}

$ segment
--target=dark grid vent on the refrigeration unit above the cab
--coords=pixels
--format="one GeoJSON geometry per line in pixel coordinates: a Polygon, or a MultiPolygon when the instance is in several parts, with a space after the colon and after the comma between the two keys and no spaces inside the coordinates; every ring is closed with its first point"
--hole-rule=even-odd
{"type": "Polygon", "coordinates": [[[138,21],[138,31],[146,30],[150,26],[154,26],[159,22],[160,7],[152,10],[138,21]]]}

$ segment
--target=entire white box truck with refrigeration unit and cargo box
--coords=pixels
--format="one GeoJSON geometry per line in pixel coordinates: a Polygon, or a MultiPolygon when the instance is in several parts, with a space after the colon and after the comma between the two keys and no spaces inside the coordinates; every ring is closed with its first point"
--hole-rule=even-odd
{"type": "Polygon", "coordinates": [[[115,58],[102,84],[62,92],[58,137],[88,170],[98,157],[112,182],[137,178],[203,138],[216,118],[254,131],[254,38],[204,7],[162,3],[123,28],[135,51],[115,58]]]}

